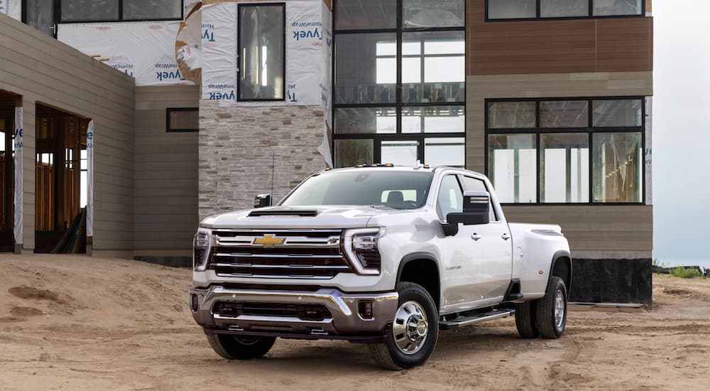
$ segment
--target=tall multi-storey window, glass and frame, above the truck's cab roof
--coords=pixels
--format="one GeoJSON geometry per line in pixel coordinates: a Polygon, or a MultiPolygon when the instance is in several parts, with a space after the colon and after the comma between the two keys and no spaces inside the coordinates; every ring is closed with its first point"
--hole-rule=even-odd
{"type": "Polygon", "coordinates": [[[336,166],[465,165],[464,8],[464,0],[336,2],[336,166]]]}

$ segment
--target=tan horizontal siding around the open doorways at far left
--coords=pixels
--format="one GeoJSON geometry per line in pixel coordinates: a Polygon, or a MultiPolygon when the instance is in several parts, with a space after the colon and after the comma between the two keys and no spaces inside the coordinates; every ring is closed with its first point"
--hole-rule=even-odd
{"type": "Polygon", "coordinates": [[[35,104],[94,119],[94,240],[133,248],[135,82],[79,50],[0,15],[0,90],[23,97],[23,249],[35,237],[35,104]]]}

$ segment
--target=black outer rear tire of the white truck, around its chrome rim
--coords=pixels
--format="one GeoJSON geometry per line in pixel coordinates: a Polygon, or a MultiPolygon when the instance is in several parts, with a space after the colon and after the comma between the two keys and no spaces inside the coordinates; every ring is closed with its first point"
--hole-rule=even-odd
{"type": "MultiPolygon", "coordinates": [[[[558,307],[559,309],[559,307],[558,307]]],[[[545,297],[535,303],[535,326],[542,338],[559,338],[567,323],[567,287],[561,278],[552,276],[547,282],[545,297]],[[561,317],[555,316],[557,299],[561,301],[561,317]]]]}

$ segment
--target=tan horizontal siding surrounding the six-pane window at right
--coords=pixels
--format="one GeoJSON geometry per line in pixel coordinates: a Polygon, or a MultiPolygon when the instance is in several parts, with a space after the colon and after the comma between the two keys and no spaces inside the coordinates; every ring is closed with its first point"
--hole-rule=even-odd
{"type": "MultiPolygon", "coordinates": [[[[466,77],[466,168],[485,170],[485,104],[493,98],[650,96],[651,72],[469,75],[466,77]]],[[[647,191],[650,191],[648,181],[647,191]]],[[[573,251],[585,257],[650,257],[652,206],[510,206],[521,223],[562,226],[573,251]]]]}

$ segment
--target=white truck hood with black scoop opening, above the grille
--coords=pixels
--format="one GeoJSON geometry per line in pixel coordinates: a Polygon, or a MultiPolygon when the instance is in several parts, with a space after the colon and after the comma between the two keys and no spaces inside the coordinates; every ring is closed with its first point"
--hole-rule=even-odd
{"type": "Polygon", "coordinates": [[[409,214],[412,212],[413,210],[361,205],[275,206],[213,215],[202,220],[200,226],[213,229],[358,228],[367,227],[371,218],[376,216],[409,214]]]}

